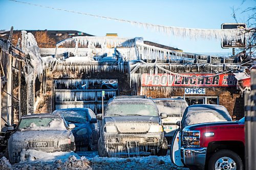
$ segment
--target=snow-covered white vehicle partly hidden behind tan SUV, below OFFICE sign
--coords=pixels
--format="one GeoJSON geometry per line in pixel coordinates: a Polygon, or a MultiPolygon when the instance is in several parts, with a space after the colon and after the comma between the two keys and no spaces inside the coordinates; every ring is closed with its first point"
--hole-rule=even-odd
{"type": "Polygon", "coordinates": [[[182,119],[183,113],[188,104],[184,99],[163,98],[152,99],[160,113],[166,113],[167,117],[162,119],[164,136],[168,142],[172,139],[174,132],[179,127],[176,123],[182,119]]]}

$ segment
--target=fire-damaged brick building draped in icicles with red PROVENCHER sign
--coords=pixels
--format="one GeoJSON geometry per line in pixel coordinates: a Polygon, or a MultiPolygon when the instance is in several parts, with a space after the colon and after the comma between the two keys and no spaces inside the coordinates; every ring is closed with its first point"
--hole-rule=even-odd
{"type": "MultiPolygon", "coordinates": [[[[33,113],[87,107],[97,114],[102,109],[104,91],[104,105],[114,95],[146,95],[185,98],[188,105],[223,105],[234,119],[244,114],[243,89],[237,87],[236,76],[253,62],[239,56],[185,53],[142,37],[98,37],[77,31],[28,32],[34,35],[37,43],[30,43],[39,46],[39,53],[25,50],[29,47],[18,41],[21,31],[14,31],[13,42],[22,44],[21,51],[30,56],[35,68],[33,113]]],[[[2,38],[9,36],[9,32],[1,34],[2,38]]]]}

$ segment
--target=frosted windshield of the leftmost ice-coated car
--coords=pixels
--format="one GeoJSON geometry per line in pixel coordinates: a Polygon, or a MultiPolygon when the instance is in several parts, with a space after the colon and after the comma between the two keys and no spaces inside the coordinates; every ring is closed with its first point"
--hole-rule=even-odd
{"type": "Polygon", "coordinates": [[[59,117],[29,117],[20,120],[18,131],[37,130],[67,130],[62,118],[59,117]]]}

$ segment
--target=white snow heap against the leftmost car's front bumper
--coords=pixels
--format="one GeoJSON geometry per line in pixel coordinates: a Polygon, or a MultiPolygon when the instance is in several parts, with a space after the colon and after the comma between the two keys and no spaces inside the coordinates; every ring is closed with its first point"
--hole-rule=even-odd
{"type": "Polygon", "coordinates": [[[73,156],[75,158],[80,158],[77,154],[75,154],[73,151],[71,152],[42,152],[42,151],[36,151],[36,150],[24,150],[20,153],[20,160],[21,161],[35,161],[35,160],[41,160],[41,161],[49,161],[49,160],[67,160],[70,156],[73,156]]]}

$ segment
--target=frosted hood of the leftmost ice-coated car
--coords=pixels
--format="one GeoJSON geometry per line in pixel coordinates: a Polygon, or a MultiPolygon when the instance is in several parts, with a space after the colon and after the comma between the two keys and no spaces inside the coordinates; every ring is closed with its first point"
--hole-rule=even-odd
{"type": "Polygon", "coordinates": [[[40,131],[16,131],[12,134],[13,141],[42,141],[67,139],[72,133],[69,130],[40,130],[40,131]]]}

